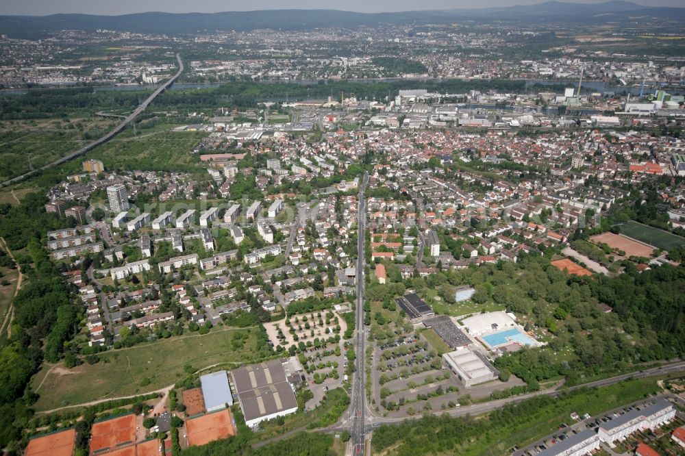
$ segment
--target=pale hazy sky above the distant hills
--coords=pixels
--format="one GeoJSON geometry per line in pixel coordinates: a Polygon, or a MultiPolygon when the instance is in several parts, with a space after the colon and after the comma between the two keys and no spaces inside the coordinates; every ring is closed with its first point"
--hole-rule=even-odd
{"type": "MultiPolygon", "coordinates": [[[[540,3],[540,0],[0,0],[0,14],[127,14],[146,11],[219,12],[282,8],[334,9],[359,12],[484,8],[540,3]]],[[[599,3],[584,0],[578,3],[599,3]]],[[[683,6],[683,0],[640,0],[650,6],[683,6]]]]}

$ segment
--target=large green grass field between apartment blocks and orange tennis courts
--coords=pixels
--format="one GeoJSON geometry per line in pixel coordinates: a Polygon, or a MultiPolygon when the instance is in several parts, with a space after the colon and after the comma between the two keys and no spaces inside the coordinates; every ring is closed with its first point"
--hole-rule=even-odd
{"type": "Polygon", "coordinates": [[[32,383],[32,389],[38,388],[40,394],[36,410],[159,390],[184,379],[188,364],[192,370],[199,370],[216,364],[259,361],[252,350],[256,334],[255,328],[217,327],[207,335],[183,335],[101,353],[101,361],[94,365],[84,363],[73,369],[62,364],[44,365],[32,383]],[[250,333],[240,351],[232,349],[231,338],[236,331],[250,333]],[[147,385],[141,387],[141,382],[147,385]]]}

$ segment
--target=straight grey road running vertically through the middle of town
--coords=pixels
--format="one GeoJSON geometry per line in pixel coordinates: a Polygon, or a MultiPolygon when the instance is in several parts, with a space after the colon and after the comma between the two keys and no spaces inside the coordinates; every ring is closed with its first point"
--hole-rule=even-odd
{"type": "Polygon", "coordinates": [[[365,382],[365,355],[364,342],[366,331],[364,330],[364,242],[366,240],[366,199],[364,190],[369,183],[369,175],[364,174],[362,185],[359,188],[358,214],[357,214],[357,304],[356,304],[356,336],[355,351],[356,364],[352,381],[352,400],[349,409],[349,418],[352,420],[351,438],[348,445],[348,453],[352,455],[364,454],[364,440],[366,439],[366,411],[365,382]]]}

